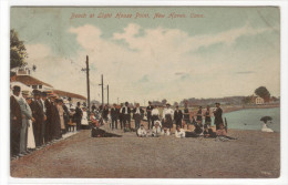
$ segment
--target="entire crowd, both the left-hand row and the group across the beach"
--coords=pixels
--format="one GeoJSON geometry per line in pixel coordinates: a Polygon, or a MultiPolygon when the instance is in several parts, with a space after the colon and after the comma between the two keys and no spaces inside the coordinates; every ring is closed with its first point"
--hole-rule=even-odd
{"type": "Polygon", "coordinates": [[[162,115],[157,105],[152,105],[152,102],[148,102],[145,109],[138,103],[132,107],[128,102],[113,104],[112,107],[109,105],[96,107],[93,104],[88,115],[80,102],[74,107],[68,104],[68,100],[60,99],[52,92],[33,90],[31,93],[13,85],[10,93],[10,154],[12,158],[55,142],[66,132],[74,132],[74,127],[76,131],[81,130],[81,123],[88,123],[88,120],[96,127],[109,123],[112,130],[134,131],[140,137],[147,136],[148,133],[151,136],[168,136],[172,134],[173,124],[176,124],[176,131],[173,133],[176,137],[227,136],[219,103],[216,103],[214,111],[210,111],[209,106],[205,111],[199,106],[196,114],[188,109],[187,104],[184,110],[178,106],[173,110],[167,103],[162,115]],[[210,129],[212,113],[215,117],[216,133],[210,129]],[[147,131],[142,124],[144,115],[147,120],[147,131]],[[131,126],[132,119],[134,127],[131,126]],[[184,125],[187,125],[186,131],[184,131],[184,125]],[[191,132],[192,125],[194,125],[193,132],[191,132]]]}

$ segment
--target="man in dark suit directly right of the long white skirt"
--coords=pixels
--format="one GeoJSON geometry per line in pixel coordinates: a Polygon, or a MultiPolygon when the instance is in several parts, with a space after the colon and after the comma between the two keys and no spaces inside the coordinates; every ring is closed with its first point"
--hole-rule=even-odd
{"type": "Polygon", "coordinates": [[[40,147],[43,144],[43,135],[42,135],[42,126],[44,122],[44,112],[43,104],[40,101],[41,92],[38,90],[33,90],[34,101],[32,102],[31,110],[32,116],[34,117],[33,122],[33,132],[35,138],[35,146],[40,147]]]}

